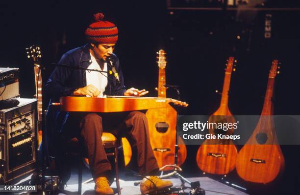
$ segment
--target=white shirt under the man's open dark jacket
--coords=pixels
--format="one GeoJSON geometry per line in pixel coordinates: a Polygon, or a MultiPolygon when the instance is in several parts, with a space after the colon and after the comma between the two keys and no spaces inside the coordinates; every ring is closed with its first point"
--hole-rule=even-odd
{"type": "MultiPolygon", "coordinates": [[[[90,53],[92,63],[87,67],[88,69],[97,69],[101,70],[100,65],[98,64],[95,57],[90,53]]],[[[104,67],[102,71],[107,71],[107,64],[104,63],[104,67]]],[[[96,71],[85,71],[86,74],[86,86],[93,85],[100,91],[100,94],[98,97],[103,96],[103,92],[105,90],[105,87],[107,86],[107,73],[104,72],[96,72],[96,71]],[[105,76],[104,76],[105,75],[105,76]]],[[[90,97],[89,95],[86,95],[87,97],[90,97]]]]}

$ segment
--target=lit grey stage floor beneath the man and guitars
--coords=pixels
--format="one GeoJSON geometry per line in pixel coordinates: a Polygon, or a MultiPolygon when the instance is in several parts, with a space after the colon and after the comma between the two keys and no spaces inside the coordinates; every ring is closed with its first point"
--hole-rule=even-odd
{"type": "MultiPolygon", "coordinates": [[[[241,192],[237,189],[229,187],[223,183],[220,183],[208,177],[191,177],[187,179],[191,182],[200,181],[201,188],[205,190],[206,195],[247,195],[244,192],[241,192]]],[[[181,184],[180,180],[177,178],[172,178],[170,180],[173,182],[174,186],[179,186],[181,184]]],[[[134,182],[135,181],[124,181],[122,179],[120,180],[122,195],[141,194],[140,186],[134,186],[133,185],[134,182]]],[[[90,183],[87,184],[82,184],[82,194],[84,195],[94,194],[94,186],[95,186],[94,181],[91,181],[90,183]]],[[[189,187],[188,184],[186,184],[186,186],[189,187]]],[[[112,187],[116,187],[115,182],[112,184],[112,187]]],[[[75,192],[77,191],[77,188],[78,188],[77,184],[68,184],[65,190],[75,192]]],[[[189,189],[185,190],[185,192],[189,192],[189,191],[190,191],[189,189]]]]}

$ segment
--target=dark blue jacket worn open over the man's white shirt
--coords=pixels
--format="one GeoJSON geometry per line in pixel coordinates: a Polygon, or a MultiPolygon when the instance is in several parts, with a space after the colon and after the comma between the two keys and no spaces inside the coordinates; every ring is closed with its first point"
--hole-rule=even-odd
{"type": "MultiPolygon", "coordinates": [[[[89,44],[72,49],[63,54],[59,65],[81,66],[87,68],[91,64],[91,56],[89,52],[89,44]]],[[[105,95],[124,95],[126,91],[124,86],[123,73],[120,67],[118,57],[112,55],[113,65],[115,66],[120,83],[115,82],[113,74],[108,73],[108,83],[105,88],[105,95]]],[[[111,67],[107,65],[107,70],[111,67]]],[[[47,130],[48,132],[61,132],[63,125],[68,119],[69,113],[60,111],[59,107],[51,106],[52,102],[58,102],[62,96],[72,96],[76,88],[86,86],[85,70],[69,69],[65,67],[55,67],[51,73],[46,85],[45,94],[50,97],[50,103],[47,112],[47,130]]]]}

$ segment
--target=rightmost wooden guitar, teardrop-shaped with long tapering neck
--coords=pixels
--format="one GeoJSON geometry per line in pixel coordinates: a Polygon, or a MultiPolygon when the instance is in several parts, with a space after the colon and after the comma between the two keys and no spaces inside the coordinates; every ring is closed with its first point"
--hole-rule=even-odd
{"type": "Polygon", "coordinates": [[[284,157],[275,132],[273,115],[273,89],[278,61],[274,60],[269,73],[264,106],[259,121],[247,143],[240,150],[237,173],[246,181],[269,183],[284,170],[284,157]]]}

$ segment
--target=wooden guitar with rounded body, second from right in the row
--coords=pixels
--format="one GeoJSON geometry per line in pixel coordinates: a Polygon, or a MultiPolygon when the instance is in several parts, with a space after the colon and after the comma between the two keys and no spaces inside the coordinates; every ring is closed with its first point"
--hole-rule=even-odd
{"type": "MultiPolygon", "coordinates": [[[[221,105],[215,111],[212,116],[209,117],[209,123],[234,123],[235,119],[232,116],[228,108],[228,92],[230,87],[230,79],[233,68],[234,58],[229,57],[228,63],[225,69],[224,86],[222,91],[221,105]]],[[[215,129],[209,129],[209,133],[218,134],[223,133],[225,135],[231,135],[233,128],[227,131],[219,131],[215,129]]],[[[235,161],[237,156],[237,149],[232,140],[205,140],[200,146],[197,152],[196,161],[197,165],[204,173],[211,174],[227,174],[231,172],[235,167],[235,161]]]]}

